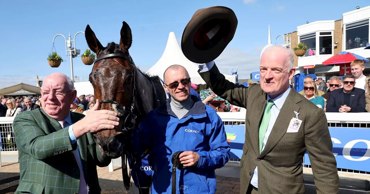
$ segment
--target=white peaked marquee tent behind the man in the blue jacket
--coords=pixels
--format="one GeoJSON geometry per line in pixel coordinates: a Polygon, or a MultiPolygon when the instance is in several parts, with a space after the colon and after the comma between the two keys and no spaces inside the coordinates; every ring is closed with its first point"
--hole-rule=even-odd
{"type": "MultiPolygon", "coordinates": [[[[194,84],[205,84],[203,79],[198,73],[198,65],[190,61],[182,53],[181,47],[177,42],[174,32],[169,33],[166,48],[162,54],[162,57],[157,61],[153,67],[151,67],[147,73],[149,75],[158,75],[163,80],[164,71],[171,65],[181,65],[185,67],[191,78],[191,82],[194,84]]],[[[236,79],[233,75],[225,75],[225,78],[233,83],[236,79]]]]}

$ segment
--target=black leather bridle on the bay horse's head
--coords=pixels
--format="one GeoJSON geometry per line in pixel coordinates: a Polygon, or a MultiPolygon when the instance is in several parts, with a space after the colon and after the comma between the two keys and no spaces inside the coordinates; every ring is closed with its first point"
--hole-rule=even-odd
{"type": "Polygon", "coordinates": [[[117,108],[117,111],[122,113],[123,116],[125,116],[125,121],[123,123],[123,126],[122,126],[122,132],[127,132],[128,130],[130,130],[132,128],[132,126],[134,126],[135,124],[135,119],[137,118],[137,116],[134,114],[134,105],[135,105],[135,92],[136,92],[136,84],[135,84],[135,81],[136,81],[136,76],[135,76],[135,63],[134,61],[132,60],[131,56],[130,55],[124,55],[124,54],[107,54],[107,55],[103,55],[101,57],[98,57],[95,61],[94,61],[94,64],[97,62],[97,61],[100,61],[101,59],[107,59],[107,58],[122,58],[122,59],[126,59],[130,66],[131,66],[131,69],[132,69],[132,74],[133,74],[133,79],[132,79],[132,96],[131,96],[131,107],[130,107],[130,110],[128,111],[127,108],[118,103],[118,102],[115,102],[115,101],[111,101],[111,100],[102,100],[100,102],[100,108],[101,108],[101,105],[103,103],[111,103],[112,105],[115,105],[116,108],[117,108]]]}

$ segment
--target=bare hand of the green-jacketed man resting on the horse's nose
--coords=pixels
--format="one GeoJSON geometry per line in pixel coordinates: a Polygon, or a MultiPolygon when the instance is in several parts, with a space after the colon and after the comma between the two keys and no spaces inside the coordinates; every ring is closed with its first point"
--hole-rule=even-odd
{"type": "Polygon", "coordinates": [[[120,119],[117,117],[116,112],[111,110],[98,110],[99,106],[100,102],[97,99],[95,106],[90,109],[87,115],[73,124],[73,133],[77,139],[85,133],[113,129],[120,124],[120,119]]]}

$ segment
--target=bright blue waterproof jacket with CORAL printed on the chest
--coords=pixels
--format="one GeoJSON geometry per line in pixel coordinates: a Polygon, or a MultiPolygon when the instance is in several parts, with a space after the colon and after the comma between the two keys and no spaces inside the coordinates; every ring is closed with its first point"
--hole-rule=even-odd
{"type": "Polygon", "coordinates": [[[200,156],[197,166],[176,168],[178,194],[215,193],[215,169],[229,160],[230,146],[221,118],[210,106],[195,96],[191,98],[194,105],[182,119],[177,118],[169,105],[171,99],[167,99],[139,125],[143,149],[151,149],[152,193],[171,193],[171,159],[177,151],[193,151],[200,156]]]}

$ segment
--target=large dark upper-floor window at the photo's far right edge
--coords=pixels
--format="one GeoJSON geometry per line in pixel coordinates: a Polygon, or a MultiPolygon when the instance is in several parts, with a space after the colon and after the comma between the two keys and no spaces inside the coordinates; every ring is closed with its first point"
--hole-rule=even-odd
{"type": "Polygon", "coordinates": [[[346,50],[369,44],[369,20],[346,25],[346,50]]]}

